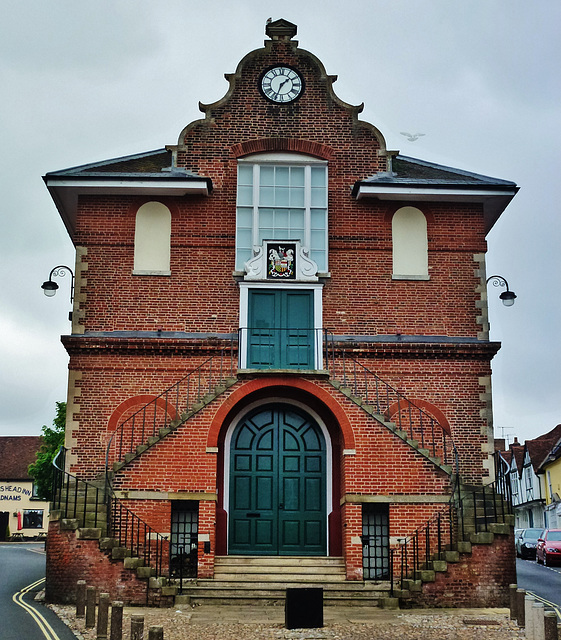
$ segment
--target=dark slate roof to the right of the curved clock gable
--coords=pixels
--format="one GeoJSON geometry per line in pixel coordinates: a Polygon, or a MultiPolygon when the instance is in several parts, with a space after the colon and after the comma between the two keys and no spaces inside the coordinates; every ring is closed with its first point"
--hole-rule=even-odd
{"type": "Polygon", "coordinates": [[[444,165],[397,155],[392,160],[392,173],[378,173],[361,181],[362,184],[379,185],[419,185],[450,188],[477,187],[516,189],[516,183],[500,178],[491,178],[479,173],[471,173],[463,169],[455,169],[444,165]]]}

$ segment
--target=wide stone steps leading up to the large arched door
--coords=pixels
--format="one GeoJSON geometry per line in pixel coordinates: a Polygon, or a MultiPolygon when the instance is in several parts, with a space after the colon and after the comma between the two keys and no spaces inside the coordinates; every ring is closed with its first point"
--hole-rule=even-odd
{"type": "Polygon", "coordinates": [[[389,583],[346,580],[343,558],[310,556],[217,556],[214,579],[184,580],[191,604],[284,605],[287,588],[323,588],[326,606],[380,606],[389,583]]]}

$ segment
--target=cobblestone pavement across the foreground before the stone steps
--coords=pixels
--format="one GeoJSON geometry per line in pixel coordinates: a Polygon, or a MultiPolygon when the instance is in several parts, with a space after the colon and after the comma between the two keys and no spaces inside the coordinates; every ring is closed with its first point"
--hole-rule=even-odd
{"type": "MultiPolygon", "coordinates": [[[[72,606],[49,605],[79,640],[95,640],[72,606]]],[[[283,607],[182,606],[173,609],[125,607],[123,640],[130,640],[131,615],[144,616],[144,638],[153,625],[164,640],[518,640],[524,630],[506,609],[417,609],[328,607],[321,629],[284,628],[283,607]]]]}

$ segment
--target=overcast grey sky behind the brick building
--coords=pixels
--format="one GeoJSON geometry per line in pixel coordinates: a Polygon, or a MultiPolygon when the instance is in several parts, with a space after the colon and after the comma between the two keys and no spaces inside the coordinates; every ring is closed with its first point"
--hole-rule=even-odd
{"type": "Polygon", "coordinates": [[[488,236],[488,275],[518,295],[489,291],[496,436],[561,423],[561,3],[21,0],[0,22],[0,435],[38,434],[66,399],[70,280],[40,285],[74,249],[41,177],[175,144],[268,17],[298,25],[388,148],[521,187],[488,236]]]}

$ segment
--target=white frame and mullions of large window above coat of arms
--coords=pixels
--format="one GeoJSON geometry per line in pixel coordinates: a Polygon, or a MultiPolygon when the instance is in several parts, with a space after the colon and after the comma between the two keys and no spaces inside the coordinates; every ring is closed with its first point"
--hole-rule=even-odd
{"type": "MultiPolygon", "coordinates": [[[[263,166],[284,166],[284,167],[304,167],[304,237],[301,239],[302,246],[309,251],[310,257],[312,256],[311,247],[311,235],[312,235],[312,202],[311,202],[311,175],[312,167],[324,166],[325,167],[325,179],[326,179],[326,206],[325,206],[325,269],[322,269],[322,274],[327,274],[329,271],[329,175],[328,166],[326,160],[320,160],[313,156],[306,156],[298,153],[256,153],[244,158],[238,159],[239,165],[253,165],[253,219],[252,219],[252,245],[254,251],[262,245],[259,241],[259,187],[260,187],[260,170],[263,166]]],[[[236,199],[237,200],[237,199],[236,199]]],[[[242,205],[243,206],[243,205],[242,205]]],[[[238,207],[240,205],[236,202],[236,269],[243,271],[243,265],[238,264],[238,207]]],[[[261,207],[263,208],[263,207],[261,207]]],[[[296,238],[295,238],[296,239],[296,238]]],[[[313,258],[312,258],[313,259],[313,258]]]]}

